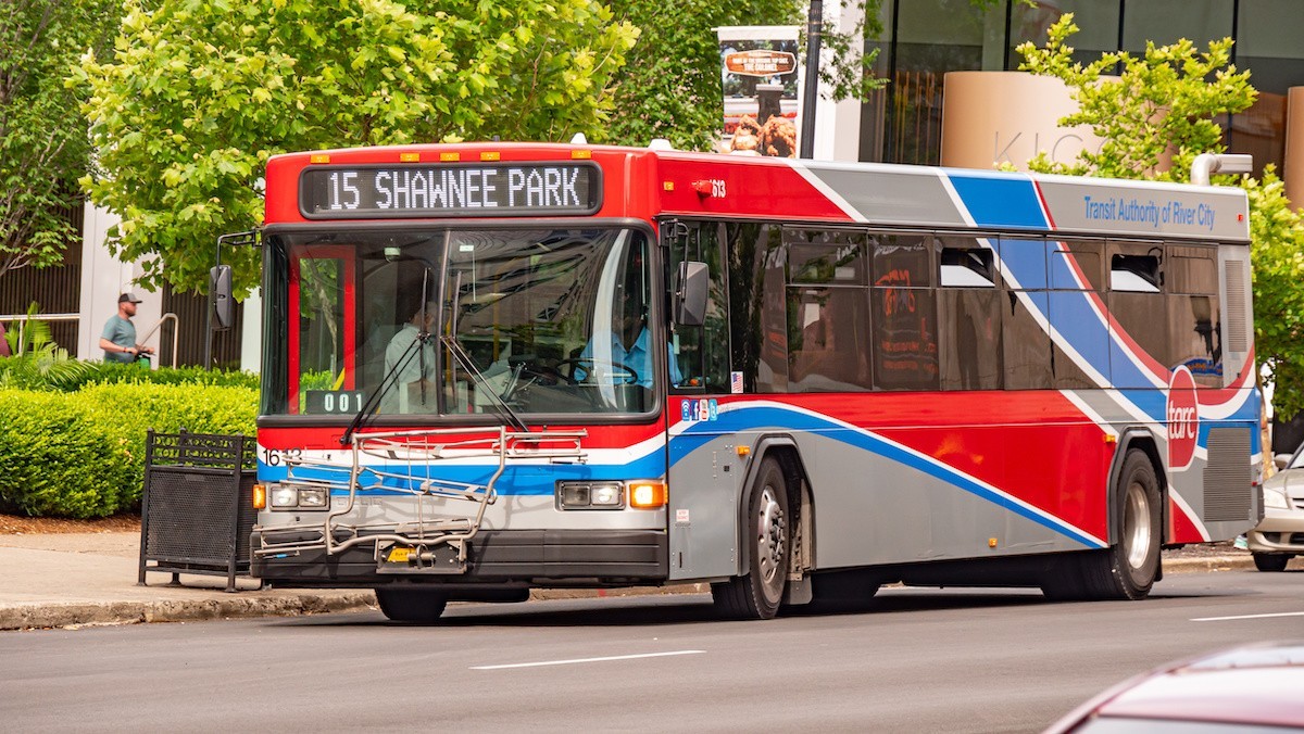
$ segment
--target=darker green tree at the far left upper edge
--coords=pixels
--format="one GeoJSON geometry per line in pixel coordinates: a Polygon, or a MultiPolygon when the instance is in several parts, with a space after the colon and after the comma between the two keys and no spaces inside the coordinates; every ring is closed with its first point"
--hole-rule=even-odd
{"type": "Polygon", "coordinates": [[[0,13],[0,278],[61,262],[80,236],[61,210],[80,199],[90,146],[64,78],[116,22],[110,0],[9,0],[0,13]]]}

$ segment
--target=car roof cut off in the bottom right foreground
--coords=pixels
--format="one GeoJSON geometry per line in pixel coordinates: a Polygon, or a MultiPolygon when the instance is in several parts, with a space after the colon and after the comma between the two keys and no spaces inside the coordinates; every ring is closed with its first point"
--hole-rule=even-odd
{"type": "Polygon", "coordinates": [[[1164,665],[1095,696],[1047,734],[1304,731],[1304,643],[1241,647],[1164,665]]]}

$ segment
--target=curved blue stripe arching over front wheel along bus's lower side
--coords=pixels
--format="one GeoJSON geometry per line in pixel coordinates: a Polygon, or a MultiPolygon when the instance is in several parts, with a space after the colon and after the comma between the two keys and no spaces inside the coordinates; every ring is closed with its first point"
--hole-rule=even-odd
{"type": "Polygon", "coordinates": [[[685,429],[682,434],[670,439],[670,465],[673,467],[677,462],[696,448],[700,448],[711,439],[717,438],[721,433],[756,430],[771,426],[782,426],[784,430],[793,430],[797,433],[816,433],[855,448],[870,451],[871,454],[876,454],[884,459],[918,469],[919,472],[923,472],[934,478],[939,478],[957,489],[998,505],[1009,512],[1026,518],[1088,548],[1104,548],[1099,541],[1082,535],[1072,525],[1060,523],[1052,518],[1035,512],[1029,507],[1018,505],[999,492],[995,492],[944,464],[931,462],[872,433],[842,426],[802,411],[789,411],[772,405],[721,411],[719,420],[692,424],[685,429]]]}

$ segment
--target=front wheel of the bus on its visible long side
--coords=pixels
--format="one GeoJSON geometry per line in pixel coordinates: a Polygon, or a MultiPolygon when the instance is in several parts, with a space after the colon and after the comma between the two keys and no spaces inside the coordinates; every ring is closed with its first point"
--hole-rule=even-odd
{"type": "Polygon", "coordinates": [[[745,542],[750,545],[747,574],[712,584],[716,609],[739,619],[771,619],[784,600],[792,544],[788,535],[788,482],[773,458],[756,475],[747,508],[745,542]]]}

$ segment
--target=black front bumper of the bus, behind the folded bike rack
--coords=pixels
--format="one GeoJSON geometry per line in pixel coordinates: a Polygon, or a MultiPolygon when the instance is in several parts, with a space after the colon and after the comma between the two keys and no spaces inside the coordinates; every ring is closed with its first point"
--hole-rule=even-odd
{"type": "MultiPolygon", "coordinates": [[[[261,544],[254,529],[253,548],[261,544]]],[[[373,544],[254,554],[250,572],[286,588],[373,588],[393,583],[498,587],[609,587],[660,584],[669,576],[665,531],[481,531],[469,541],[460,574],[382,572],[373,544]]]]}

